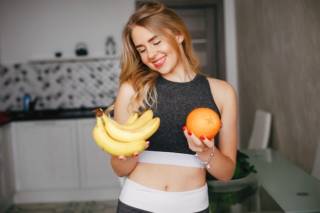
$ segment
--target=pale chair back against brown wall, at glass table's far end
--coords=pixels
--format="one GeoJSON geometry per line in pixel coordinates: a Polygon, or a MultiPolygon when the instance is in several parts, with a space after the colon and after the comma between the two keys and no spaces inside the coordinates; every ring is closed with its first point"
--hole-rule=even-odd
{"type": "Polygon", "coordinates": [[[268,147],[271,128],[271,113],[257,110],[248,149],[266,149],[268,147]]]}

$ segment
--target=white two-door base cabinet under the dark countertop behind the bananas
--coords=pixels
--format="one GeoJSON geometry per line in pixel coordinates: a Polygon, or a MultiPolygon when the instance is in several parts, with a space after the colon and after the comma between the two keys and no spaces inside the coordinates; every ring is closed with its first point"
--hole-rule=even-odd
{"type": "Polygon", "coordinates": [[[13,122],[14,202],[117,200],[118,177],[94,127],[94,118],[13,122]]]}

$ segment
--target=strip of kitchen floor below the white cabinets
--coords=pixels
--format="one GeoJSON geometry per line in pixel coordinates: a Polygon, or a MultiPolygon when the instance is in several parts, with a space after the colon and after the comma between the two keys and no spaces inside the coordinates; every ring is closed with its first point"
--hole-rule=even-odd
{"type": "Polygon", "coordinates": [[[116,213],[118,201],[13,205],[6,213],[116,213]]]}

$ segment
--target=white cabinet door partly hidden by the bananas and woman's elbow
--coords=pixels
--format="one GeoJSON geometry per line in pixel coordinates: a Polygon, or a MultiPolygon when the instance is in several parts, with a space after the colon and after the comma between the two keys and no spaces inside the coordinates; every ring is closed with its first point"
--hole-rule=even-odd
{"type": "Polygon", "coordinates": [[[110,165],[110,155],[93,138],[96,119],[78,119],[81,184],[83,188],[119,188],[118,176],[110,165]]]}

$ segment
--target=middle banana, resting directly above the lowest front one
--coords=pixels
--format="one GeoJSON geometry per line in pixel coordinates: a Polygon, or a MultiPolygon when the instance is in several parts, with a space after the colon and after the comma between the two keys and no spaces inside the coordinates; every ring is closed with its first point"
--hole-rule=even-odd
{"type": "Polygon", "coordinates": [[[160,125],[159,117],[154,117],[144,126],[138,129],[127,129],[126,126],[117,125],[117,122],[106,121],[104,128],[108,135],[115,140],[130,142],[135,140],[146,140],[158,129],[160,125]]]}

